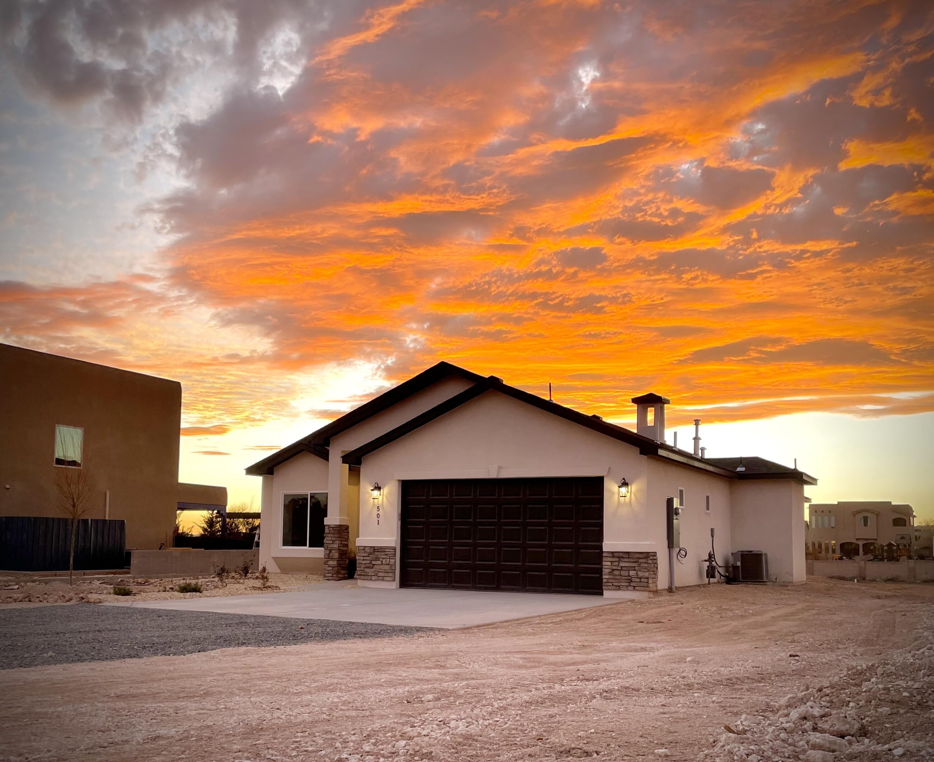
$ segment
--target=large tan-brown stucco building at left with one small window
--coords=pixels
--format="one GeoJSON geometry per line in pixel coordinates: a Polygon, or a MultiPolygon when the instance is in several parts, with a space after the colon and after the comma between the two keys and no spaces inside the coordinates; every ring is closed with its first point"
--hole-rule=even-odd
{"type": "Polygon", "coordinates": [[[123,519],[127,549],[171,547],[180,503],[227,503],[179,485],[180,422],[177,381],[0,344],[0,516],[61,517],[55,473],[84,469],[86,518],[123,519]]]}

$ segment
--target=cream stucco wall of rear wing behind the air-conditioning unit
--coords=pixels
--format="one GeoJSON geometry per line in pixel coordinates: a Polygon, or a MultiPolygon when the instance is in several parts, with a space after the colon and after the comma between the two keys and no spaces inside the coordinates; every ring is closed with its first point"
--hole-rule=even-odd
{"type": "Polygon", "coordinates": [[[772,580],[804,582],[804,486],[791,479],[740,481],[730,492],[733,550],[763,550],[772,580]]]}

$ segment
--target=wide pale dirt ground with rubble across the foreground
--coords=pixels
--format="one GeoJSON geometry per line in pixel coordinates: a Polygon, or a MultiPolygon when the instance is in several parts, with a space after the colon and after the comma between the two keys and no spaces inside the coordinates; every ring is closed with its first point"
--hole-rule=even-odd
{"type": "Polygon", "coordinates": [[[931,585],[813,578],[378,641],[6,670],[0,755],[928,759],[932,602],[931,585]],[[842,718],[859,726],[846,751],[809,748],[831,712],[867,717],[842,718]],[[793,723],[803,747],[753,752],[793,723]]]}

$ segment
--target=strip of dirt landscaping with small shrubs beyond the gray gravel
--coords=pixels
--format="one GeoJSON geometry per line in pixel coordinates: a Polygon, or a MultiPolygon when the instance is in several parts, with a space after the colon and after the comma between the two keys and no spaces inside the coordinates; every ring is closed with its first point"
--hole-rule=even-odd
{"type": "Polygon", "coordinates": [[[247,579],[239,574],[230,574],[223,579],[211,577],[173,577],[171,579],[137,579],[109,575],[106,578],[75,578],[68,585],[67,577],[51,577],[38,581],[27,581],[21,577],[0,577],[0,607],[19,603],[107,603],[113,600],[175,600],[184,598],[217,598],[219,596],[257,595],[258,593],[288,592],[304,590],[308,586],[324,582],[320,574],[269,574],[268,587],[263,589],[256,573],[247,579]],[[177,593],[175,588],[182,583],[196,582],[202,586],[201,593],[177,593]],[[133,590],[132,597],[115,596],[114,586],[127,586],[133,590]]]}

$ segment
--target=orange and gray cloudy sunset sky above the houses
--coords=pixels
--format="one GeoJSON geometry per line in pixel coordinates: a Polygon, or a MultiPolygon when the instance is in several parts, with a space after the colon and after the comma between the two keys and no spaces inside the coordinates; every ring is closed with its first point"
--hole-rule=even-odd
{"type": "Polygon", "coordinates": [[[930,2],[7,1],[0,177],[0,341],[232,501],[449,360],[934,516],[930,2]]]}

